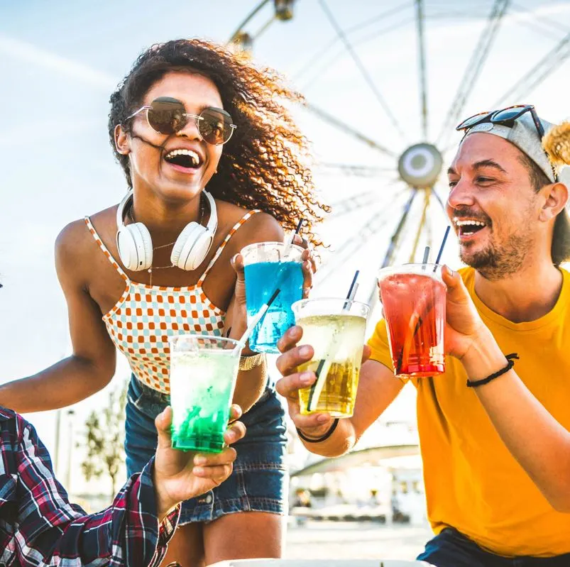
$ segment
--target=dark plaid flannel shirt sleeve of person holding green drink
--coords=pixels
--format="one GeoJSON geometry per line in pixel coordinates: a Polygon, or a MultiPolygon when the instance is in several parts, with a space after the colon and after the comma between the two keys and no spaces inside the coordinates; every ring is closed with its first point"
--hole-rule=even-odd
{"type": "Polygon", "coordinates": [[[159,526],[152,470],[150,461],[111,506],[86,514],[70,504],[33,426],[0,407],[0,566],[158,567],[180,507],[159,526]]]}

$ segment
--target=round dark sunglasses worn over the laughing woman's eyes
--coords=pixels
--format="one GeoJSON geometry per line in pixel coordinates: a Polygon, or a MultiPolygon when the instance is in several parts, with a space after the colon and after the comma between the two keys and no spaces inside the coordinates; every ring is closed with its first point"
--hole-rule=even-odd
{"type": "Polygon", "coordinates": [[[232,123],[231,116],[222,109],[208,107],[200,114],[186,112],[182,101],[170,97],[159,97],[147,106],[141,106],[125,121],[146,112],[148,126],[159,134],[170,135],[180,132],[190,119],[194,119],[202,139],[209,144],[219,145],[229,141],[237,126],[232,123]]]}

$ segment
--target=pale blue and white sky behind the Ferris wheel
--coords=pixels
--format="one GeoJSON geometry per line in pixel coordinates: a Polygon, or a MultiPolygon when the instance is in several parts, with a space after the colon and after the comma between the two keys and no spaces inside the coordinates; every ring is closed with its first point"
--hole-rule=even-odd
{"type": "MultiPolygon", "coordinates": [[[[106,133],[109,94],[149,45],[194,36],[224,43],[257,4],[257,0],[184,0],[175,6],[148,0],[0,0],[0,277],[4,284],[0,382],[31,375],[70,352],[53,245],[67,223],[119,202],[124,194],[123,175],[106,133]]],[[[256,35],[263,28],[271,16],[270,4],[253,18],[247,31],[256,35]]],[[[385,106],[400,123],[403,137],[336,38],[319,1],[297,0],[292,21],[276,21],[261,33],[253,57],[283,73],[311,104],[399,155],[408,145],[424,141],[413,4],[327,0],[385,106]]],[[[490,0],[425,0],[427,141],[437,138],[492,4],[490,0]]],[[[512,4],[461,118],[495,108],[493,104],[558,45],[568,28],[568,1],[512,4]]],[[[503,106],[532,103],[545,119],[561,121],[570,115],[569,75],[566,60],[526,92],[524,99],[503,106]]],[[[320,232],[331,248],[324,254],[329,263],[323,266],[314,293],[344,294],[354,270],[360,269],[357,299],[367,301],[406,199],[395,160],[306,109],[295,107],[293,112],[313,143],[317,163],[385,170],[377,177],[344,175],[319,165],[314,170],[319,194],[325,202],[338,204],[336,211],[346,209],[346,203],[354,203],[358,195],[365,195],[369,202],[350,214],[331,216],[322,226],[320,232]],[[366,229],[371,219],[377,221],[372,232],[366,229]],[[349,246],[344,246],[347,242],[349,246]],[[344,252],[329,258],[336,250],[344,252]]],[[[444,137],[451,144],[451,152],[444,154],[444,165],[449,165],[458,136],[449,132],[444,137]]],[[[438,190],[444,196],[445,185],[438,190]]],[[[398,261],[407,260],[419,218],[420,202],[410,212],[398,261]]],[[[431,207],[430,219],[437,246],[445,228],[438,205],[431,207]]],[[[425,242],[420,240],[420,251],[425,242]]],[[[446,246],[444,261],[458,265],[453,241],[446,246]]],[[[121,361],[111,387],[120,386],[127,376],[121,361]]],[[[77,404],[76,431],[105,395],[77,404]]],[[[413,392],[393,404],[390,412],[390,419],[413,420],[413,392]]],[[[28,418],[53,451],[54,412],[28,418]]],[[[70,431],[67,415],[63,420],[63,429],[70,431]]]]}

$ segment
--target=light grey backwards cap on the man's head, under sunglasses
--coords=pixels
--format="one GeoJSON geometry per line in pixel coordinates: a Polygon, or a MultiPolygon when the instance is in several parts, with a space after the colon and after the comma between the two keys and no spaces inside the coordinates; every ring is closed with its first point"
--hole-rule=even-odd
{"type": "MultiPolygon", "coordinates": [[[[544,128],[545,136],[555,126],[543,119],[539,119],[539,121],[542,128],[544,128]]],[[[461,129],[460,127],[461,124],[458,126],[458,129],[461,129]]],[[[490,121],[476,123],[475,126],[466,128],[465,136],[469,136],[469,134],[474,134],[476,132],[493,134],[494,136],[504,138],[510,143],[516,145],[522,153],[527,155],[538,165],[538,167],[540,167],[551,183],[556,182],[554,165],[549,160],[544,148],[542,148],[542,140],[530,112],[522,114],[522,116],[515,119],[512,126],[507,126],[503,123],[493,123],[490,121]]],[[[559,182],[564,183],[564,185],[570,189],[570,167],[562,167],[557,171],[557,173],[559,182]]]]}

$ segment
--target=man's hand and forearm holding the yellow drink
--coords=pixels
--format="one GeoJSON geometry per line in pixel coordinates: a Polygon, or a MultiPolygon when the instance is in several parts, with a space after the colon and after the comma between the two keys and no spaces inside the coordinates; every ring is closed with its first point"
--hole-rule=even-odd
{"type": "MultiPolygon", "coordinates": [[[[327,434],[334,419],[326,413],[302,415],[299,409],[299,390],[308,387],[315,380],[314,372],[297,372],[297,366],[312,359],[312,346],[296,346],[302,338],[302,329],[294,326],[280,339],[279,348],[283,354],[277,367],[283,378],[277,382],[277,390],[287,399],[289,414],[293,423],[309,439],[318,439],[327,434]]],[[[363,358],[370,356],[365,347],[363,358]]],[[[358,392],[352,417],[339,419],[333,434],[317,443],[301,439],[308,451],[317,455],[336,457],[350,451],[380,414],[395,400],[403,383],[395,378],[388,367],[376,360],[365,360],[358,380],[358,392]]]]}

